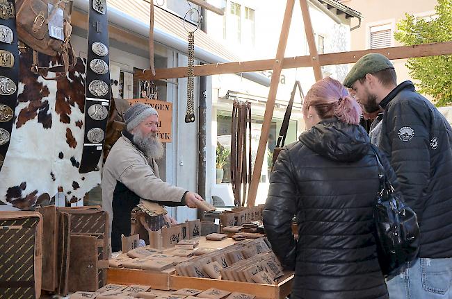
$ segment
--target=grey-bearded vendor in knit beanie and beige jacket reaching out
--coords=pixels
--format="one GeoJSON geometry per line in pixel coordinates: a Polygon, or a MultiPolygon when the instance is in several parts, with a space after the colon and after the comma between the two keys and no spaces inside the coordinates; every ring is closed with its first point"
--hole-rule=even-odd
{"type": "Polygon", "coordinates": [[[121,250],[121,234],[130,235],[131,211],[137,205],[160,216],[161,228],[164,205],[195,208],[195,201],[203,200],[199,194],[160,179],[155,161],[163,156],[157,136],[159,113],[137,103],[124,113],[124,120],[126,130],[111,148],[102,173],[102,210],[110,216],[113,252],[121,250]]]}

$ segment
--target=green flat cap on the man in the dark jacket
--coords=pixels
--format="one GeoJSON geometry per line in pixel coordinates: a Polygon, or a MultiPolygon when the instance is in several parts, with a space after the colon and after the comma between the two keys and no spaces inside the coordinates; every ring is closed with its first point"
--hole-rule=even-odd
{"type": "Polygon", "coordinates": [[[352,87],[353,83],[360,78],[364,78],[366,74],[374,74],[382,69],[394,69],[394,65],[386,58],[385,55],[378,53],[369,53],[362,56],[344,80],[345,87],[352,87]]]}

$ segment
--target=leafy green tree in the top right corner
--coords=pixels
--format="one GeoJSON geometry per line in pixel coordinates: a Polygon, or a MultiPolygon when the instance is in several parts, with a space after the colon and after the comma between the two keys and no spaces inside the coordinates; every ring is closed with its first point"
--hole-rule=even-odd
{"type": "MultiPolygon", "coordinates": [[[[405,45],[449,42],[452,40],[452,0],[438,0],[435,17],[424,19],[405,14],[394,37],[405,45]]],[[[407,61],[417,88],[433,96],[437,106],[452,103],[452,55],[410,58],[407,61]]]]}

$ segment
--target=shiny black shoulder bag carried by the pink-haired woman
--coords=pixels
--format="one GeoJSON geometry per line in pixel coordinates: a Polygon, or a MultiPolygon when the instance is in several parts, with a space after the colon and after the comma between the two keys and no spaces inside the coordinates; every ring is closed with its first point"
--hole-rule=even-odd
{"type": "Polygon", "coordinates": [[[373,211],[376,225],[378,262],[384,275],[397,275],[406,262],[419,252],[419,225],[416,213],[405,205],[402,194],[395,192],[389,182],[381,157],[374,146],[380,191],[373,211]]]}

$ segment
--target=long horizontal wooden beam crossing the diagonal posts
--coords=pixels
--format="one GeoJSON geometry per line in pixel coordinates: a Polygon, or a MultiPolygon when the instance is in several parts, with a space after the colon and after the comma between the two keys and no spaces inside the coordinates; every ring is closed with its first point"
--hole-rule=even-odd
{"type": "MultiPolygon", "coordinates": [[[[417,44],[414,46],[394,46],[382,49],[349,51],[339,53],[328,53],[318,55],[320,65],[344,65],[355,63],[362,56],[369,53],[380,53],[387,58],[405,59],[428,57],[436,55],[452,54],[452,42],[435,42],[431,44],[417,44]]],[[[244,62],[227,62],[211,65],[195,66],[195,76],[211,76],[220,74],[240,74],[248,71],[267,71],[272,69],[274,59],[252,60],[244,62]]],[[[296,67],[311,67],[311,57],[309,55],[284,58],[283,69],[294,69],[296,67]]],[[[144,73],[138,71],[134,74],[139,80],[161,80],[170,78],[185,78],[187,76],[186,67],[175,67],[172,69],[156,69],[156,76],[152,76],[150,70],[144,73]]]]}

